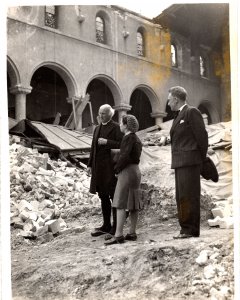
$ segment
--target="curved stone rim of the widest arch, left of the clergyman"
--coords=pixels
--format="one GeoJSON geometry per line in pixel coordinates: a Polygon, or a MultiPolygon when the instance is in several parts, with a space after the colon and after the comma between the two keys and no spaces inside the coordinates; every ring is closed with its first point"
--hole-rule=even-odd
{"type": "Polygon", "coordinates": [[[64,66],[62,66],[56,62],[46,61],[46,62],[42,62],[41,64],[37,65],[33,69],[32,73],[30,74],[29,82],[31,82],[31,78],[32,78],[33,74],[36,72],[36,70],[38,70],[41,67],[48,67],[49,69],[52,69],[63,79],[63,81],[65,82],[65,84],[67,86],[69,98],[79,96],[76,80],[74,79],[71,72],[69,70],[67,70],[64,66]]]}

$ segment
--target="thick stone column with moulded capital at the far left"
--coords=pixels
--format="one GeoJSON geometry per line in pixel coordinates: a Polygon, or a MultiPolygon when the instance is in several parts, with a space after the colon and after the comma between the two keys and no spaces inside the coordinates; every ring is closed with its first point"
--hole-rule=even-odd
{"type": "Polygon", "coordinates": [[[10,88],[9,91],[15,95],[15,119],[17,121],[26,119],[26,94],[31,93],[32,87],[16,85],[10,88]]]}

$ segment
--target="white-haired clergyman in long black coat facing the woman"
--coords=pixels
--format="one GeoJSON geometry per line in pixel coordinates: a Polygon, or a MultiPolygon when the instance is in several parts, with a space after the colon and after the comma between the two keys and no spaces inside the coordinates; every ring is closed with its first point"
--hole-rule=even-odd
{"type": "Polygon", "coordinates": [[[92,236],[105,233],[115,234],[116,209],[113,209],[113,225],[111,226],[111,200],[113,199],[117,178],[114,174],[114,165],[111,149],[119,149],[123,134],[118,123],[112,120],[114,109],[104,104],[98,113],[99,125],[93,133],[92,146],[88,161],[88,174],[91,175],[90,193],[98,193],[101,199],[103,225],[95,228],[92,236]]]}

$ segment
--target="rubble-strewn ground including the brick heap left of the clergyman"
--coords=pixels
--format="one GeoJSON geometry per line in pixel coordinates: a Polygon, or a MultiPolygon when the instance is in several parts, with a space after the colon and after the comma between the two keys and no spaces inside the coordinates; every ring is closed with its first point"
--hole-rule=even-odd
{"type": "Polygon", "coordinates": [[[208,225],[210,197],[201,199],[201,236],[174,240],[173,174],[162,165],[156,180],[157,170],[145,168],[138,240],[104,246],[104,236],[90,235],[101,210],[85,171],[16,140],[10,145],[14,300],[233,299],[233,230],[208,225]]]}

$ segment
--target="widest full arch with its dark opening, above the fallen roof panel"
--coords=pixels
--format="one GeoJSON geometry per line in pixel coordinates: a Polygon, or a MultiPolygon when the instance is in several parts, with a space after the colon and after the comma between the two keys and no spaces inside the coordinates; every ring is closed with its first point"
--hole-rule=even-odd
{"type": "Polygon", "coordinates": [[[62,65],[45,61],[29,74],[31,93],[26,96],[26,117],[29,120],[53,123],[57,115],[63,125],[72,111],[72,99],[78,99],[73,75],[62,65]]]}

